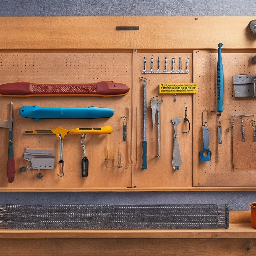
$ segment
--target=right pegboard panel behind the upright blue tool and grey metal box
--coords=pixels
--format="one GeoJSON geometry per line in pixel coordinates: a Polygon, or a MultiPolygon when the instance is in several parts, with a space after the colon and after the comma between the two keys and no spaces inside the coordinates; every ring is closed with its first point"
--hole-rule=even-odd
{"type": "Polygon", "coordinates": [[[208,50],[193,52],[193,79],[198,83],[198,93],[194,94],[193,98],[193,186],[195,187],[256,186],[255,143],[253,143],[251,122],[252,119],[256,119],[255,98],[235,97],[233,85],[233,76],[255,74],[256,65],[252,61],[254,55],[255,53],[222,53],[223,112],[220,117],[217,117],[217,52],[208,50]],[[230,114],[254,114],[254,116],[242,118],[246,134],[244,142],[241,142],[241,118],[234,120],[235,126],[232,127],[234,118],[229,116],[230,114]],[[205,122],[209,129],[209,149],[212,155],[211,161],[201,162],[199,152],[203,149],[202,129],[205,122]],[[218,143],[219,124],[222,127],[221,144],[218,143]],[[236,132],[235,135],[232,129],[236,132]],[[238,146],[240,152],[235,153],[238,146]],[[254,168],[248,169],[248,166],[244,164],[243,158],[247,152],[249,154],[247,160],[252,163],[250,166],[254,166],[254,168]],[[239,168],[237,168],[238,165],[239,168]]]}

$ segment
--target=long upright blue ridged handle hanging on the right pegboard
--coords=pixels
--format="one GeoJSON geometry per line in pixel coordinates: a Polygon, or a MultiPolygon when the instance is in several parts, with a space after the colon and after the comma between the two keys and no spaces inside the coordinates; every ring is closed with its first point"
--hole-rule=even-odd
{"type": "Polygon", "coordinates": [[[224,84],[224,75],[223,75],[223,65],[221,57],[221,47],[222,43],[218,44],[218,61],[217,61],[217,111],[223,111],[223,84],[224,84]]]}

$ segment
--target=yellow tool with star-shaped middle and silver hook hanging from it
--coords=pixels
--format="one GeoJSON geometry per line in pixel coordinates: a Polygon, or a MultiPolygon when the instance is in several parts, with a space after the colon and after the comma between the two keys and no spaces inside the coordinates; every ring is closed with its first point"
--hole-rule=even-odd
{"type": "Polygon", "coordinates": [[[34,130],[34,131],[25,131],[25,134],[55,134],[60,141],[60,161],[62,164],[62,174],[58,174],[58,176],[62,177],[64,175],[64,161],[63,161],[63,138],[67,134],[109,134],[113,132],[113,128],[111,126],[103,126],[100,128],[75,128],[71,130],[63,129],[61,127],[57,127],[52,130],[34,130]]]}

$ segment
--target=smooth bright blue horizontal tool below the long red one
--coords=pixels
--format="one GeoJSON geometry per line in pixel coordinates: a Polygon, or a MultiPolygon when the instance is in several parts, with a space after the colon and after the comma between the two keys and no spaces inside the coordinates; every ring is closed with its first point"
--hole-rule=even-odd
{"type": "Polygon", "coordinates": [[[23,106],[19,110],[23,117],[34,118],[35,121],[43,118],[107,118],[114,114],[111,108],[87,107],[87,108],[57,108],[23,106]]]}

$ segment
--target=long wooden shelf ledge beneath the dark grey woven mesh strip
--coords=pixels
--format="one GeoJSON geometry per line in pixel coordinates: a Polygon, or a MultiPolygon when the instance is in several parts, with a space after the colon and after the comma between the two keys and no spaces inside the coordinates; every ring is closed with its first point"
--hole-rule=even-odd
{"type": "Polygon", "coordinates": [[[228,229],[142,229],[142,230],[10,230],[0,238],[256,238],[250,223],[229,224],[228,229]]]}

